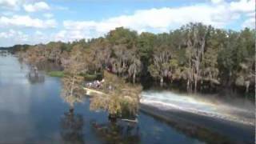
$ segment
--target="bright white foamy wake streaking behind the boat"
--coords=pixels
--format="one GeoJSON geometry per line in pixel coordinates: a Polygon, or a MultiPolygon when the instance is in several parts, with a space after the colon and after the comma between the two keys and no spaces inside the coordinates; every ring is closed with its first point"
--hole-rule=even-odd
{"type": "Polygon", "coordinates": [[[227,106],[223,103],[210,102],[206,98],[175,94],[170,91],[150,90],[142,92],[140,102],[150,106],[157,106],[161,110],[183,110],[194,114],[254,125],[254,119],[242,117],[243,114],[241,114],[248,114],[250,111],[235,106],[227,106]],[[239,112],[240,115],[235,115],[235,112],[239,112]]]}

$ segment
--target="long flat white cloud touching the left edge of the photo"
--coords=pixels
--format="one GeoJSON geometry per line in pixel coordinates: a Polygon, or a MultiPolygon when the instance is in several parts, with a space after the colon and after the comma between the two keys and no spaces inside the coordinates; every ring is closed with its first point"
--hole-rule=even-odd
{"type": "Polygon", "coordinates": [[[22,27],[34,27],[34,28],[53,28],[57,26],[57,22],[54,19],[38,19],[30,18],[28,15],[14,15],[11,18],[2,16],[0,17],[0,27],[7,26],[22,26],[22,27]]]}

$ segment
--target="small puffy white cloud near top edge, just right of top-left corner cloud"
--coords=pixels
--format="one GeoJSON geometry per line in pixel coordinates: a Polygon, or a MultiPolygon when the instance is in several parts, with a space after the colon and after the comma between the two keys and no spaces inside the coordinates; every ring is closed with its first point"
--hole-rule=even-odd
{"type": "Polygon", "coordinates": [[[35,2],[34,4],[24,4],[23,8],[27,12],[50,10],[50,6],[46,2],[35,2]]]}

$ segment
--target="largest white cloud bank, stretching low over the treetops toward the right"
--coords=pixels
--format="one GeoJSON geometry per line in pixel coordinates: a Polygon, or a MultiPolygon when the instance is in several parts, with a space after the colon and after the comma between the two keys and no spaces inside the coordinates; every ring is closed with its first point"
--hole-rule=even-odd
{"type": "Polygon", "coordinates": [[[106,34],[106,32],[118,26],[124,26],[141,32],[143,30],[166,32],[189,22],[203,22],[206,25],[225,27],[238,18],[240,18],[240,14],[231,12],[228,5],[201,4],[176,8],[164,7],[160,9],[137,10],[134,14],[108,18],[100,22],[64,21],[63,26],[66,31],[74,33],[74,38],[82,36],[84,36],[83,38],[88,38],[106,34]],[[80,32],[78,33],[77,31],[80,32]]]}

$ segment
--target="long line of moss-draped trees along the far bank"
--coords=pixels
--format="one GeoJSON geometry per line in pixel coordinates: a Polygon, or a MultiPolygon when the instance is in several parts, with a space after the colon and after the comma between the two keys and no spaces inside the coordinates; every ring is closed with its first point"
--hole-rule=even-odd
{"type": "Polygon", "coordinates": [[[19,46],[15,52],[31,64],[54,62],[82,74],[109,70],[142,85],[254,92],[255,34],[248,28],[222,30],[202,23],[162,34],[118,27],[100,38],[19,46]]]}

